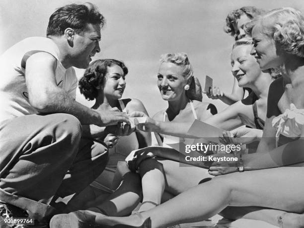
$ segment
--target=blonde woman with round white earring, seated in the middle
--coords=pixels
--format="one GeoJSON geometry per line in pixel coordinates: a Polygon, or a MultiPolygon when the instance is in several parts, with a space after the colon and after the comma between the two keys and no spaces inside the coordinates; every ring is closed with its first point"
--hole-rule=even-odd
{"type": "MultiPolygon", "coordinates": [[[[202,102],[200,82],[194,76],[185,53],[168,53],[160,57],[157,86],[162,99],[168,102],[168,108],[157,112],[153,116],[155,120],[178,125],[180,121],[192,122],[195,119],[203,121],[217,113],[214,105],[202,102]]],[[[206,169],[180,167],[179,153],[170,147],[170,144],[180,142],[191,144],[193,139],[157,132],[154,134],[161,147],[150,147],[138,150],[137,153],[151,151],[157,157],[129,163],[129,167],[133,171],[138,170],[142,177],[143,204],[139,211],[147,211],[160,204],[164,191],[167,196],[175,196],[195,186],[203,176],[210,176],[206,169]],[[191,178],[188,178],[189,175],[191,178]]]]}

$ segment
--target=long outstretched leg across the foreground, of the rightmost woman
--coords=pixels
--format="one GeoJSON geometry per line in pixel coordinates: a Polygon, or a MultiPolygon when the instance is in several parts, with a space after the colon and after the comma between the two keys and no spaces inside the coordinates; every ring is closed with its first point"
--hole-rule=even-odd
{"type": "MultiPolygon", "coordinates": [[[[144,219],[151,218],[154,228],[208,219],[227,206],[252,205],[303,213],[303,174],[302,167],[280,167],[218,176],[141,214],[144,219]]],[[[143,222],[140,220],[137,216],[95,218],[97,224],[108,225],[132,225],[143,222]]]]}

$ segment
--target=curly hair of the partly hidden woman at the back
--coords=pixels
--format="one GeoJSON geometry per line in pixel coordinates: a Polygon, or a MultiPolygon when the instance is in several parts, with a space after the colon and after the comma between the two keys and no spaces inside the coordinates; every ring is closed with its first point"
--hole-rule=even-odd
{"type": "Polygon", "coordinates": [[[257,8],[254,6],[244,6],[239,9],[234,9],[230,11],[226,17],[226,24],[224,26],[224,31],[226,33],[230,33],[231,36],[236,37],[236,32],[233,27],[233,23],[236,22],[237,19],[241,17],[241,15],[245,14],[249,19],[255,18],[257,15],[264,13],[265,10],[261,8],[257,8]]]}

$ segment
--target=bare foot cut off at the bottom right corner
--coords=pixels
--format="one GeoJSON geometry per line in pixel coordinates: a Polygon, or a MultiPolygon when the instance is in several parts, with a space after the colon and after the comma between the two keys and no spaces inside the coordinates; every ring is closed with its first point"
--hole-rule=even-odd
{"type": "Polygon", "coordinates": [[[285,212],[278,216],[278,224],[281,228],[304,228],[304,214],[285,212]]]}

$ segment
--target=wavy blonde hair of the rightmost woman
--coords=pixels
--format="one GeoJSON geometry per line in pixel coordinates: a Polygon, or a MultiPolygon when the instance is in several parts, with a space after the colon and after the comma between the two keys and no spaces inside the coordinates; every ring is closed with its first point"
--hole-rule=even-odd
{"type": "Polygon", "coordinates": [[[300,10],[291,7],[270,10],[246,24],[246,32],[251,34],[257,24],[263,34],[274,39],[278,51],[304,58],[304,16],[300,10]]]}

